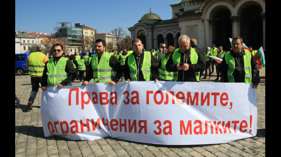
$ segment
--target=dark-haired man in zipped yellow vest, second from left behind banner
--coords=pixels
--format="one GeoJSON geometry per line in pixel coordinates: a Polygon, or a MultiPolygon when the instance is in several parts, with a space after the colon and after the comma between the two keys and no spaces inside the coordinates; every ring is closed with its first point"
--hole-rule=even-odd
{"type": "Polygon", "coordinates": [[[95,52],[82,85],[87,85],[92,78],[94,83],[107,82],[109,85],[115,85],[123,72],[120,62],[111,53],[106,52],[106,42],[102,39],[95,40],[95,52]]]}

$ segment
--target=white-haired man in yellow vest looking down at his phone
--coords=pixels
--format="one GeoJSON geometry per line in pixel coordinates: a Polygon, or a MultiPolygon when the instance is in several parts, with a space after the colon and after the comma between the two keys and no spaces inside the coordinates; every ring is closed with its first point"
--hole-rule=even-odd
{"type": "Polygon", "coordinates": [[[199,50],[190,47],[190,38],[182,35],[178,39],[179,48],[171,54],[166,64],[168,72],[174,72],[174,81],[199,81],[200,71],[205,69],[206,61],[199,50]]]}

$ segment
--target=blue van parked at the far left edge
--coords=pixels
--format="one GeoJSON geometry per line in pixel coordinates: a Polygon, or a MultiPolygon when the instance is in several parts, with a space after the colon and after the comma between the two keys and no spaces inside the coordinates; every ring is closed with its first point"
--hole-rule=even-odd
{"type": "Polygon", "coordinates": [[[17,75],[24,75],[28,73],[28,67],[26,67],[26,60],[31,53],[15,54],[15,73],[17,75]]]}

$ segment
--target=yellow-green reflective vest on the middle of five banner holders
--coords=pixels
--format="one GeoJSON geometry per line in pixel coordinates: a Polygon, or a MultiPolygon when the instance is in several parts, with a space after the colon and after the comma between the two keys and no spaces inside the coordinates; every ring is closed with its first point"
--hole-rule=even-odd
{"type": "MultiPolygon", "coordinates": [[[[151,80],[151,54],[148,51],[143,51],[143,64],[140,65],[143,71],[145,81],[151,80]]],[[[130,67],[130,81],[137,81],[137,66],[135,56],[130,54],[128,58],[128,66],[130,67]]]]}

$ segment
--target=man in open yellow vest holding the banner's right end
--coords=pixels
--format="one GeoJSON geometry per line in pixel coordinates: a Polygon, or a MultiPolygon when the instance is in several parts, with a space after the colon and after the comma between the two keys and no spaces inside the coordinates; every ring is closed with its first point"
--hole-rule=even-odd
{"type": "Polygon", "coordinates": [[[257,89],[259,84],[259,66],[247,49],[242,49],[243,40],[240,36],[232,39],[232,50],[227,52],[221,62],[222,82],[253,83],[257,89]]]}

